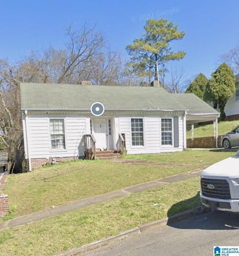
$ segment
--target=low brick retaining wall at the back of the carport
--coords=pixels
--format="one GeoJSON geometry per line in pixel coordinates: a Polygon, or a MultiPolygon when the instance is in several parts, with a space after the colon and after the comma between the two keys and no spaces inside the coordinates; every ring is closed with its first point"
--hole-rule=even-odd
{"type": "MultiPolygon", "coordinates": [[[[218,147],[221,147],[221,135],[217,139],[218,147]]],[[[191,139],[187,139],[187,148],[215,148],[216,139],[212,137],[194,138],[193,144],[191,139]]]]}

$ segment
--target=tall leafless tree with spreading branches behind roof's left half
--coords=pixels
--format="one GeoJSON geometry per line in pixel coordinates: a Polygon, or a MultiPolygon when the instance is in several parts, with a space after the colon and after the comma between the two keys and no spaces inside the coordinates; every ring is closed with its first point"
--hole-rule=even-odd
{"type": "Polygon", "coordinates": [[[102,53],[103,36],[84,24],[80,31],[68,27],[66,37],[65,49],[49,47],[43,53],[32,52],[25,58],[21,64],[24,76],[41,83],[75,84],[89,79],[93,69],[91,59],[102,53]]]}

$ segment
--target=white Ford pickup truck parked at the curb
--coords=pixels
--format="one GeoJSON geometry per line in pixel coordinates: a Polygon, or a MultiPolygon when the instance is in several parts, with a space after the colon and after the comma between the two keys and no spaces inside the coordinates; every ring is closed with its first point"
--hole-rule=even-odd
{"type": "Polygon", "coordinates": [[[200,198],[211,209],[239,212],[239,151],[201,173],[200,198]]]}

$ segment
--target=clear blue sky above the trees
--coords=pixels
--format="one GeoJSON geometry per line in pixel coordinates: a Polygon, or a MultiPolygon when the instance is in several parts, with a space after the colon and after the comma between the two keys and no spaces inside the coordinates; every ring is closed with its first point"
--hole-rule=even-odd
{"type": "Polygon", "coordinates": [[[208,78],[220,65],[219,56],[236,46],[239,37],[238,0],[200,1],[105,1],[105,0],[0,0],[0,58],[10,63],[42,51],[50,45],[64,47],[64,29],[80,28],[85,21],[103,31],[113,50],[127,57],[125,46],[144,32],[148,18],[167,18],[186,36],[173,50],[186,56],[174,62],[190,78],[198,73],[208,78]]]}

